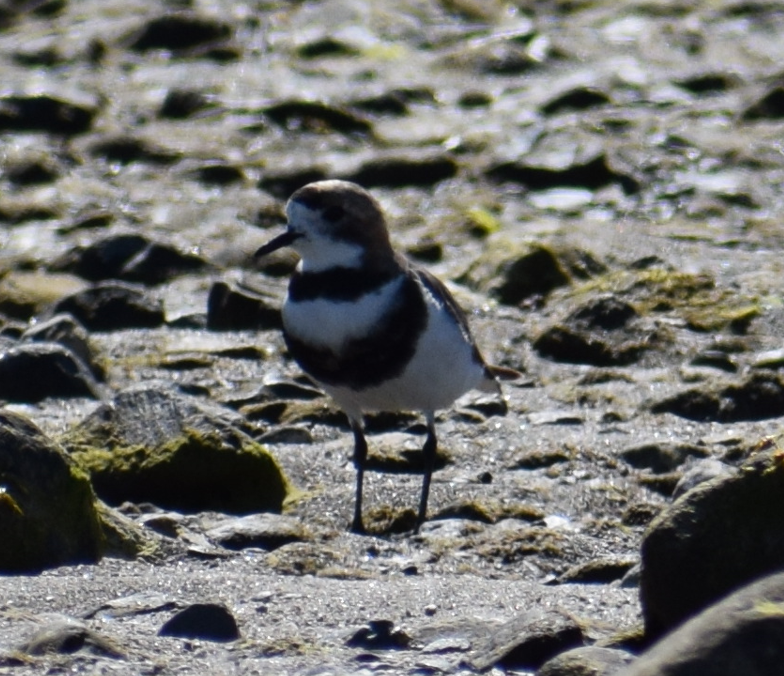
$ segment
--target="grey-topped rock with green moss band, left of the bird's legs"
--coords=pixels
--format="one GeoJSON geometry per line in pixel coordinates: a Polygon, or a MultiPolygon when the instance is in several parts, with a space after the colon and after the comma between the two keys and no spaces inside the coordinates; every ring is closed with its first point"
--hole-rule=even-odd
{"type": "Polygon", "coordinates": [[[109,504],[280,511],[288,483],[244,424],[232,411],[145,384],[100,406],[63,442],[109,504]]]}

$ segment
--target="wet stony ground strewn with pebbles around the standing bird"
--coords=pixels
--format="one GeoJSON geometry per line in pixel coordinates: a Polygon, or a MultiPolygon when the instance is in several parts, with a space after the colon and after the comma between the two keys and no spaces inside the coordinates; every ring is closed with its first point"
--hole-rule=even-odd
{"type": "Polygon", "coordinates": [[[0,26],[2,411],[146,533],[134,560],[0,580],[0,672],[529,673],[641,647],[646,526],[781,430],[778,3],[49,0],[0,26]],[[278,331],[294,261],[252,260],[326,177],[371,189],[524,372],[506,416],[440,414],[418,535],[421,422],[371,419],[371,535],[348,534],[350,435],[278,331]],[[141,411],[125,437],[108,402],[141,411]],[[184,502],[179,474],[103,480],[96,449],[173,429],[264,445],[283,515],[238,522],[261,507],[221,502],[243,477],[217,461],[184,502]],[[158,635],[203,602],[240,638],[158,635]],[[515,653],[537,632],[549,653],[515,653]]]}

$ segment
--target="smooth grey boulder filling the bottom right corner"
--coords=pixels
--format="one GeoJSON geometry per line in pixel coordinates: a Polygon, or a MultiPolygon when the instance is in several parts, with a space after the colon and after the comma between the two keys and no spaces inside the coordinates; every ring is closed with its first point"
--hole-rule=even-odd
{"type": "Polygon", "coordinates": [[[784,665],[784,573],[735,592],[616,676],[778,676],[784,665]]]}

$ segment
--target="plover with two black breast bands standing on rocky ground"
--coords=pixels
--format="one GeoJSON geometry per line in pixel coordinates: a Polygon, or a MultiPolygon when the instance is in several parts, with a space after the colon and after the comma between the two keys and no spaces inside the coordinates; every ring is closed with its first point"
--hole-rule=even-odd
{"type": "Polygon", "coordinates": [[[435,412],[472,389],[503,400],[499,379],[520,374],[484,361],[452,294],[395,252],[381,206],[366,190],[347,181],[310,183],[291,196],[286,216],[286,231],[256,256],[284,246],[300,256],[283,304],[283,337],[348,416],[357,471],[351,530],[364,532],[369,411],[420,411],[427,421],[418,529],[436,458],[435,412]]]}

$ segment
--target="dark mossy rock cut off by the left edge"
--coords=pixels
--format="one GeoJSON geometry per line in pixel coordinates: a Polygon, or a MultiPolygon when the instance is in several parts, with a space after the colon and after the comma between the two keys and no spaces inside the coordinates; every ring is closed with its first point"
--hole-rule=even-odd
{"type": "Polygon", "coordinates": [[[0,410],[0,571],[94,562],[103,546],[85,472],[27,418],[0,410]]]}

